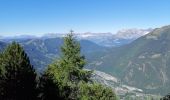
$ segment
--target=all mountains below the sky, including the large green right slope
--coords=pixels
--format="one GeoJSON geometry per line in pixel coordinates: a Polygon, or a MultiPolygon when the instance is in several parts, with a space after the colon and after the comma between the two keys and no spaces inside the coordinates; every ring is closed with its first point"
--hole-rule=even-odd
{"type": "MultiPolygon", "coordinates": [[[[15,40],[28,53],[38,71],[60,56],[65,34],[42,37],[1,38],[0,48],[15,40]]],[[[170,26],[121,30],[111,33],[75,34],[87,58],[86,68],[113,75],[124,84],[146,93],[170,91],[170,26]]]]}

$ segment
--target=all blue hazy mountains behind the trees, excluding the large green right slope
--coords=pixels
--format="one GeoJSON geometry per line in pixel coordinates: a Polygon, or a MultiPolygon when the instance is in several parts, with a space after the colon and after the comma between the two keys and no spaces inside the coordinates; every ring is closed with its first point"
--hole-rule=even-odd
{"type": "MultiPolygon", "coordinates": [[[[119,31],[118,35],[111,33],[75,33],[75,37],[80,41],[82,53],[88,61],[105,54],[110,47],[128,44],[130,41],[143,36],[151,29],[128,29],[119,31]],[[127,38],[127,34],[134,38],[127,38]],[[122,34],[122,35],[121,35],[122,34]],[[124,34],[124,35],[123,35],[124,34]],[[119,42],[118,42],[119,41],[119,42]]],[[[31,35],[18,35],[14,37],[1,37],[4,47],[12,41],[19,42],[31,58],[31,62],[38,71],[43,71],[49,63],[60,55],[60,46],[63,43],[64,33],[49,33],[41,37],[31,35]]],[[[2,48],[1,47],[1,48],[2,48]]]]}

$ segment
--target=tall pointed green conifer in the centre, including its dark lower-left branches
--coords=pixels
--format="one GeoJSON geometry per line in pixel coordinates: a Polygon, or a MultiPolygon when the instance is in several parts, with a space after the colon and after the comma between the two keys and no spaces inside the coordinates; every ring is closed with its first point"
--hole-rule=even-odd
{"type": "MultiPolygon", "coordinates": [[[[88,82],[91,76],[91,71],[83,70],[85,57],[81,55],[80,44],[76,41],[72,32],[64,37],[64,44],[61,47],[61,57],[48,66],[40,79],[41,90],[50,89],[49,83],[44,79],[53,80],[56,86],[51,86],[56,88],[54,91],[59,91],[55,95],[66,100],[75,99],[78,83],[80,81],[88,82]]],[[[44,99],[48,99],[47,95],[52,94],[50,91],[47,94],[44,92],[42,95],[44,99]]],[[[53,96],[55,97],[55,95],[53,96]]]]}

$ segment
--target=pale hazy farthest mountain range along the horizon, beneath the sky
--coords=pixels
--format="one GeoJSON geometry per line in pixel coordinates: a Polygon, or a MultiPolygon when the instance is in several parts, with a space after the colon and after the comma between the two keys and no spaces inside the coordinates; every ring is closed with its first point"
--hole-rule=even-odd
{"type": "MultiPolygon", "coordinates": [[[[128,44],[135,39],[149,33],[152,29],[124,29],[118,31],[116,34],[112,33],[75,33],[75,37],[78,40],[88,40],[94,42],[100,46],[105,47],[117,47],[124,44],[128,44]]],[[[62,38],[66,34],[65,33],[48,33],[43,36],[31,36],[31,35],[17,35],[12,37],[0,37],[0,40],[5,42],[11,41],[27,41],[29,39],[49,39],[49,38],[62,38]]]]}

